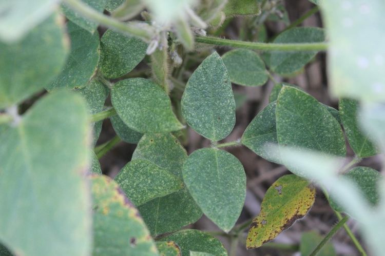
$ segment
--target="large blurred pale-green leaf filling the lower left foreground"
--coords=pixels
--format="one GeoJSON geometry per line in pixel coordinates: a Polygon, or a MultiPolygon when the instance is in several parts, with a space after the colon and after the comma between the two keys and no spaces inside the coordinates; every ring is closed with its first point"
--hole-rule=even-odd
{"type": "Polygon", "coordinates": [[[16,254],[89,254],[89,135],[82,97],[64,91],[0,133],[0,241],[16,254]]]}

